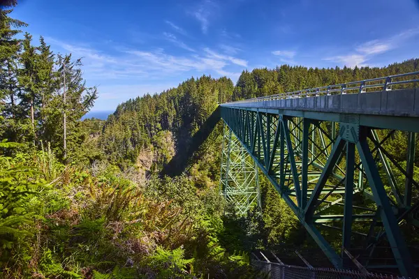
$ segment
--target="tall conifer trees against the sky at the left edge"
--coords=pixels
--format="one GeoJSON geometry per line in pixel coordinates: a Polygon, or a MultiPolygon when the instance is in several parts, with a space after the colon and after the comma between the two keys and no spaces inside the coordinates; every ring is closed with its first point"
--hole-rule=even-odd
{"type": "Polygon", "coordinates": [[[60,158],[68,153],[70,159],[77,160],[85,140],[80,119],[92,107],[97,90],[85,85],[80,59],[54,54],[42,36],[38,45],[33,45],[29,33],[22,40],[15,38],[20,30],[13,28],[26,24],[10,18],[10,12],[0,10],[0,137],[31,147],[43,140],[60,158]],[[64,75],[66,84],[62,84],[64,75]]]}

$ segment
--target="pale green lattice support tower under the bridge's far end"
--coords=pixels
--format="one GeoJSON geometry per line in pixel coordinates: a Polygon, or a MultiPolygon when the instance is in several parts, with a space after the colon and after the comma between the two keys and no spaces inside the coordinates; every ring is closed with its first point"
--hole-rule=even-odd
{"type": "Polygon", "coordinates": [[[235,213],[246,216],[253,207],[260,209],[258,169],[246,148],[228,126],[223,128],[220,194],[233,204],[235,213]]]}

